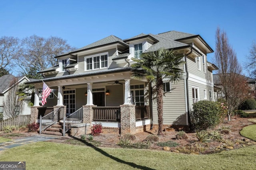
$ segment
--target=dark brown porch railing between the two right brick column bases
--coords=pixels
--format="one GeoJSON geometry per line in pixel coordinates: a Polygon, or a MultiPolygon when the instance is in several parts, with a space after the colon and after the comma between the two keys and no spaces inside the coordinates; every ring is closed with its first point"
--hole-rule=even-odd
{"type": "Polygon", "coordinates": [[[93,121],[120,121],[119,106],[92,107],[93,121]]]}

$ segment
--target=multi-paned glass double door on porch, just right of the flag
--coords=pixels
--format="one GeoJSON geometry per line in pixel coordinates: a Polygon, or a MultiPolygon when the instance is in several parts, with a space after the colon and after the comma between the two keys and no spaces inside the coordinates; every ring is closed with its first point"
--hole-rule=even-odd
{"type": "Polygon", "coordinates": [[[67,107],[66,114],[69,115],[76,111],[76,90],[65,90],[63,94],[63,104],[67,107]]]}

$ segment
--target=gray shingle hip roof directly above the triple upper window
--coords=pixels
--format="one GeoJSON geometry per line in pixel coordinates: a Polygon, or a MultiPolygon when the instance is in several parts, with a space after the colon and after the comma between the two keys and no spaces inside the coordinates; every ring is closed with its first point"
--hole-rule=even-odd
{"type": "MultiPolygon", "coordinates": [[[[99,41],[96,41],[94,43],[91,43],[89,45],[86,45],[80,49],[77,49],[76,51],[80,51],[80,50],[84,50],[84,49],[89,49],[89,48],[93,48],[93,47],[97,47],[100,45],[106,45],[106,44],[110,44],[110,43],[115,43],[115,42],[120,42],[123,43],[124,45],[129,46],[128,44],[126,44],[122,39],[114,36],[114,35],[110,35],[106,38],[100,39],[99,41]]],[[[75,52],[75,51],[74,51],[75,52]]]]}

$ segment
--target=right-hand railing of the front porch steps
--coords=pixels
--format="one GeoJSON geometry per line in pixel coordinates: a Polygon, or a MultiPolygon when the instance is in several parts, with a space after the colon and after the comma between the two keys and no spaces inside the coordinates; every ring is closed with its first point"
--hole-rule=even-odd
{"type": "Polygon", "coordinates": [[[71,129],[72,124],[82,123],[83,121],[83,107],[71,113],[68,116],[63,117],[63,136],[71,129]]]}

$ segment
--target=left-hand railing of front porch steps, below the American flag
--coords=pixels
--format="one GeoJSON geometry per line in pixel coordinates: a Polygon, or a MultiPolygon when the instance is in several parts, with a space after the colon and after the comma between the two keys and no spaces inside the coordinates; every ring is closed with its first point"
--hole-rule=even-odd
{"type": "Polygon", "coordinates": [[[43,116],[40,115],[40,127],[39,127],[39,133],[41,134],[42,131],[44,131],[47,127],[50,127],[60,119],[63,119],[64,117],[64,108],[65,107],[58,107],[58,109],[55,109],[54,111],[48,113],[47,115],[43,116]]]}

